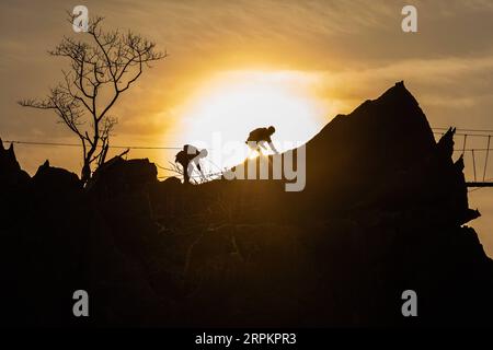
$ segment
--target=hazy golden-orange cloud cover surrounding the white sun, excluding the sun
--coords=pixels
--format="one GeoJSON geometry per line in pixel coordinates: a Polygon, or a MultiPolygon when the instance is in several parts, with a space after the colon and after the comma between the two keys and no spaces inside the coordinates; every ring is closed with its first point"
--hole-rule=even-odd
{"type": "MultiPolygon", "coordinates": [[[[491,1],[414,1],[419,33],[402,33],[401,1],[85,1],[107,27],[133,28],[171,54],[145,72],[114,114],[117,138],[158,141],[180,119],[176,108],[218,71],[300,71],[316,78],[320,98],[351,112],[405,80],[437,124],[489,122],[493,22],[491,1]]],[[[66,61],[46,50],[62,35],[67,2],[0,4],[2,133],[69,138],[55,117],[20,108],[43,96],[66,61]],[[31,125],[26,129],[24,126],[31,125]]],[[[491,108],[490,108],[491,109],[491,108]]],[[[328,116],[329,118],[332,116],[328,116]]]]}

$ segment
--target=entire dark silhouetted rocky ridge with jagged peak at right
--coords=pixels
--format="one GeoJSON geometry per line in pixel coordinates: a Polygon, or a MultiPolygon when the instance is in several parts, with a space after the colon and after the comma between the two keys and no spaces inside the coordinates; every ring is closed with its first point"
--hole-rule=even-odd
{"type": "MultiPolygon", "coordinates": [[[[71,293],[85,289],[82,325],[491,326],[493,261],[463,225],[479,212],[454,132],[435,142],[397,83],[307,143],[300,192],[159,183],[152,163],[121,158],[82,190],[45,164],[0,202],[3,320],[79,325],[71,293]],[[408,289],[416,318],[401,314],[408,289]]],[[[0,176],[19,172],[4,152],[0,176]]]]}

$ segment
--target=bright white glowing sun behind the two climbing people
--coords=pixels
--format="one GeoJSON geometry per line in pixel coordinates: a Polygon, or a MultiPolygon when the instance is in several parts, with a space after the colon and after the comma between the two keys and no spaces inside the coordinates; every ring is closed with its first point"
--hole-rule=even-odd
{"type": "Polygon", "coordinates": [[[175,142],[207,148],[219,167],[248,156],[244,141],[255,128],[274,126],[276,148],[295,148],[320,130],[329,113],[313,93],[314,83],[298,71],[217,73],[183,106],[175,142]]]}

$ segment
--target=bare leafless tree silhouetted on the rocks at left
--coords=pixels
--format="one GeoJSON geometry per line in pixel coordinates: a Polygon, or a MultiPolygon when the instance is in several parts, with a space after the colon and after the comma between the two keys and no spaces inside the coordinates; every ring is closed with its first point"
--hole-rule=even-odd
{"type": "MultiPolygon", "coordinates": [[[[70,24],[72,23],[70,15],[70,24]]],[[[44,100],[20,101],[21,106],[53,109],[82,143],[81,180],[87,183],[92,167],[104,163],[110,137],[117,122],[110,116],[121,94],[127,91],[152,61],[168,56],[156,44],[133,32],[105,32],[103,18],[91,19],[85,42],[64,37],[49,55],[66,57],[70,69],[62,70],[64,81],[50,89],[44,100]]]]}

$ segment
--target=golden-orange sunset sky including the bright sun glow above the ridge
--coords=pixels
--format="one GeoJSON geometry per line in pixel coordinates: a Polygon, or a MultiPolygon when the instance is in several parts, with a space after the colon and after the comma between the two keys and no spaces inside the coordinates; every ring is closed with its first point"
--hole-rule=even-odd
{"type": "MultiPolygon", "coordinates": [[[[105,16],[104,27],[133,30],[169,54],[118,101],[113,144],[180,147],[210,141],[216,131],[238,139],[259,122],[278,125],[279,140],[303,141],[401,80],[433,127],[493,129],[493,1],[2,0],[3,140],[77,142],[55,115],[16,101],[44,96],[61,79],[67,61],[47,50],[64,35],[83,35],[66,21],[78,4],[105,16]],[[401,30],[405,4],[417,9],[417,33],[401,30]]],[[[77,148],[19,144],[15,151],[31,174],[46,159],[80,172],[77,148]]],[[[129,155],[165,165],[173,154],[129,155]]],[[[470,155],[466,165],[470,178],[470,155]]],[[[469,198],[483,213],[471,225],[493,256],[493,189],[469,198]]]]}

